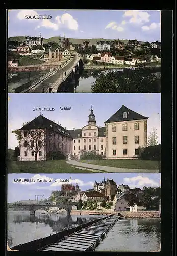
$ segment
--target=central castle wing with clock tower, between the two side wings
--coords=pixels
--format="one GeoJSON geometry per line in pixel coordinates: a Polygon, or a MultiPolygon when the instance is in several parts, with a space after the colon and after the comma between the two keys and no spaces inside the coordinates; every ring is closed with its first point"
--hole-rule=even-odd
{"type": "Polygon", "coordinates": [[[98,155],[105,155],[105,127],[96,126],[95,115],[90,110],[88,124],[82,129],[69,130],[72,137],[72,154],[80,156],[89,151],[98,155]]]}

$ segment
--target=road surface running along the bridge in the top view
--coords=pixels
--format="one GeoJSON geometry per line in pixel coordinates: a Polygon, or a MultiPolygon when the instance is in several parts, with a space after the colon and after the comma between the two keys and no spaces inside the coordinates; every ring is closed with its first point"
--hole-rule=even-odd
{"type": "Polygon", "coordinates": [[[49,93],[50,87],[52,88],[52,93],[57,92],[58,86],[65,77],[65,72],[67,75],[70,69],[74,66],[74,63],[77,63],[78,60],[78,56],[74,56],[69,63],[67,63],[64,67],[61,67],[61,69],[59,69],[54,75],[49,76],[45,80],[39,82],[36,86],[31,88],[28,93],[42,93],[43,89],[44,93],[49,93]]]}

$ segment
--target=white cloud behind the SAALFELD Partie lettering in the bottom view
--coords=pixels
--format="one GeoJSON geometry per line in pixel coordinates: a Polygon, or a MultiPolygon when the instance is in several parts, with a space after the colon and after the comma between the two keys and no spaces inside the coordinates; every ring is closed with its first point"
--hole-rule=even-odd
{"type": "MultiPolygon", "coordinates": [[[[46,183],[50,183],[53,181],[53,178],[49,178],[45,175],[40,175],[40,174],[35,174],[34,176],[32,176],[31,178],[18,178],[18,180],[31,180],[32,182],[14,182],[14,180],[12,181],[14,184],[21,184],[21,185],[33,185],[33,184],[46,184],[46,183]],[[33,182],[34,180],[34,182],[33,182]],[[42,181],[44,180],[44,181],[42,181]]],[[[17,180],[17,179],[15,179],[17,180]]]]}

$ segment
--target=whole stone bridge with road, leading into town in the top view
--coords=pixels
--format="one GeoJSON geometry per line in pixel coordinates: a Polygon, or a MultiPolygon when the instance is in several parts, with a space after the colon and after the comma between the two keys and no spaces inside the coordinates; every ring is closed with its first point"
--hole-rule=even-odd
{"type": "Polygon", "coordinates": [[[68,60],[65,65],[58,67],[55,71],[48,73],[40,78],[37,82],[32,84],[21,92],[28,93],[49,93],[49,88],[52,88],[51,93],[57,93],[61,84],[69,77],[73,76],[79,69],[79,56],[75,55],[71,60],[68,60]]]}

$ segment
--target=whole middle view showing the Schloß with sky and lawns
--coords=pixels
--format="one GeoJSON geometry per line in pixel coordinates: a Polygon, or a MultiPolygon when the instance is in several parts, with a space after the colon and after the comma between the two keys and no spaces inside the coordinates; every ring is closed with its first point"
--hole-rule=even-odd
{"type": "Polygon", "coordinates": [[[8,96],[8,173],[160,172],[160,93],[8,96]]]}

